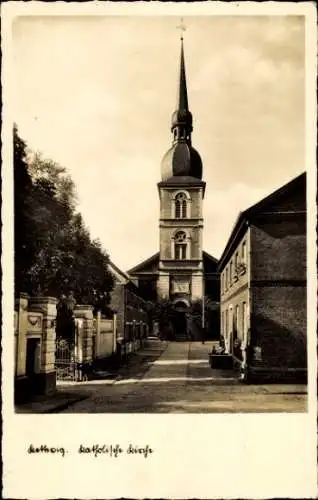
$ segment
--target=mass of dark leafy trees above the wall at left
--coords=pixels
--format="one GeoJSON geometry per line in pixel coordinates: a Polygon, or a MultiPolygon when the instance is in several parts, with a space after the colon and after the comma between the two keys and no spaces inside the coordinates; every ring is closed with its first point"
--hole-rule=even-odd
{"type": "Polygon", "coordinates": [[[17,291],[57,298],[72,293],[77,303],[107,308],[113,287],[109,258],[75,211],[71,177],[39,153],[27,154],[16,129],[14,137],[17,291]],[[21,225],[28,228],[26,234],[19,232],[21,225]]]}

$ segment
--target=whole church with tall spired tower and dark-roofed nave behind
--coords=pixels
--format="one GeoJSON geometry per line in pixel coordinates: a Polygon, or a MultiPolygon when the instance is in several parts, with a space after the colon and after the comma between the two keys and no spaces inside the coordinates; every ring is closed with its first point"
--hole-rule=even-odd
{"type": "MultiPolygon", "coordinates": [[[[192,130],[181,37],[177,109],[171,120],[172,146],[161,161],[161,180],[157,184],[159,251],[128,274],[148,300],[170,299],[184,317],[194,302],[200,301],[204,311],[208,300],[214,304],[216,318],[220,300],[218,261],[203,250],[206,183],[202,179],[200,154],[192,146],[192,130]]],[[[207,338],[218,337],[217,321],[214,323],[214,332],[208,332],[207,338]]],[[[180,324],[181,330],[186,328],[184,322],[179,322],[179,329],[180,324]]]]}

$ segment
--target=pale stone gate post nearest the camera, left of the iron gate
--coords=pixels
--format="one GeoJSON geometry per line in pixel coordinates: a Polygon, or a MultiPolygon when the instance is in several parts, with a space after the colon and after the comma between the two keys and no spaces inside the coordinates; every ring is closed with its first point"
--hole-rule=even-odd
{"type": "Polygon", "coordinates": [[[56,390],[55,341],[57,299],[55,297],[33,297],[29,300],[32,311],[43,314],[41,338],[41,369],[39,373],[39,392],[49,394],[56,390]]]}

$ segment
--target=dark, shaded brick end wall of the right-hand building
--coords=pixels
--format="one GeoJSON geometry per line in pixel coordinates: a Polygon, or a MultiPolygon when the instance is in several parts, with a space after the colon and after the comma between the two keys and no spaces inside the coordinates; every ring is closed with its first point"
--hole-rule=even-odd
{"type": "Polygon", "coordinates": [[[252,364],[306,368],[305,215],[258,220],[251,250],[252,364]]]}

